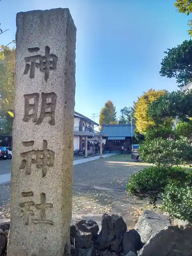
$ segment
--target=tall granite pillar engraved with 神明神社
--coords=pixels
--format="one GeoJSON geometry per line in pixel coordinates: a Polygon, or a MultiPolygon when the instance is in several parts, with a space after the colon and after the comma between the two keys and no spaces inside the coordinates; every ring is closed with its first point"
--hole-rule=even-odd
{"type": "Polygon", "coordinates": [[[76,27],[69,9],[16,17],[7,256],[63,256],[70,236],[76,27]]]}

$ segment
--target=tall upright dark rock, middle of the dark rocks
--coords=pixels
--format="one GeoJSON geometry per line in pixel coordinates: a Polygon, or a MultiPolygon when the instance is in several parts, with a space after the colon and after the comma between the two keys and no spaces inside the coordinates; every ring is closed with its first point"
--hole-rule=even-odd
{"type": "Polygon", "coordinates": [[[123,218],[119,215],[104,214],[101,221],[101,232],[97,238],[97,246],[100,249],[110,248],[111,251],[122,251],[123,233],[127,231],[127,226],[123,218]]]}

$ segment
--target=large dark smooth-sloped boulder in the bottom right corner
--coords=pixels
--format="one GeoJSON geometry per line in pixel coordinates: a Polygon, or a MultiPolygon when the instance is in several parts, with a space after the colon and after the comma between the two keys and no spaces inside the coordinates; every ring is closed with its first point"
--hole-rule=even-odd
{"type": "Polygon", "coordinates": [[[138,256],[191,256],[192,228],[167,226],[155,232],[138,256]]]}

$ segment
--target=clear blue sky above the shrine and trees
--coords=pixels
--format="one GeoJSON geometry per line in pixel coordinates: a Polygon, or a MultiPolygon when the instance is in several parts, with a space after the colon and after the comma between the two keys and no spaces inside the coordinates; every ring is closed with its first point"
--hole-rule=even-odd
{"type": "Polygon", "coordinates": [[[174,0],[1,0],[1,28],[9,30],[0,44],[15,39],[17,12],[68,7],[77,27],[75,110],[92,118],[111,99],[119,117],[120,109],[132,106],[143,91],[177,90],[174,79],[159,75],[164,51],[189,39],[189,18],[176,13],[173,4],[174,0]]]}

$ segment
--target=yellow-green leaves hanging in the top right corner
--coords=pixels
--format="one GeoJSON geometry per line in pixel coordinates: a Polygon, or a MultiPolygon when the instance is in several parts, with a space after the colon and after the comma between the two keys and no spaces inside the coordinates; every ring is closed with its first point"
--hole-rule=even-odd
{"type": "MultiPolygon", "coordinates": [[[[187,13],[187,16],[192,13],[192,0],[177,0],[174,5],[180,13],[187,13]]],[[[188,25],[190,26],[189,35],[192,36],[192,19],[189,20],[188,25]]]]}

